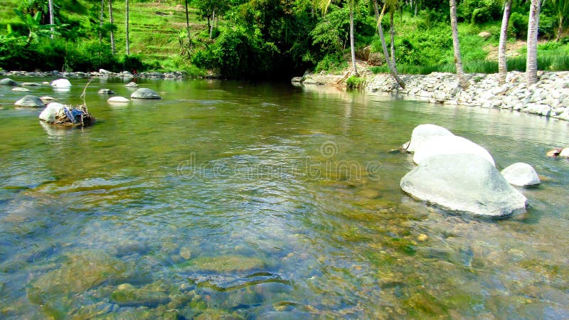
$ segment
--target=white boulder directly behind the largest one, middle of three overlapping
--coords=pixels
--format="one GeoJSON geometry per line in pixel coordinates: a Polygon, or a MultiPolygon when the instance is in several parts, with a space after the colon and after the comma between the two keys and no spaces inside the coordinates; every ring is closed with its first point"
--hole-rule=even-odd
{"type": "Polygon", "coordinates": [[[415,150],[413,161],[415,164],[421,164],[423,160],[441,154],[473,154],[486,159],[492,166],[496,166],[488,150],[469,139],[458,136],[432,136],[423,139],[415,150]]]}

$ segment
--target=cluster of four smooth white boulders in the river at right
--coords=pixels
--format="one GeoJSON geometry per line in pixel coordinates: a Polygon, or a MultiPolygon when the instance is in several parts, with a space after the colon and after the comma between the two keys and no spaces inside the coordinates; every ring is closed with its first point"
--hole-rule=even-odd
{"type": "Polygon", "coordinates": [[[401,178],[401,189],[452,212],[489,218],[523,213],[526,197],[510,183],[539,183],[530,165],[514,164],[500,173],[484,147],[434,124],[416,127],[407,145],[414,146],[418,166],[401,178]]]}

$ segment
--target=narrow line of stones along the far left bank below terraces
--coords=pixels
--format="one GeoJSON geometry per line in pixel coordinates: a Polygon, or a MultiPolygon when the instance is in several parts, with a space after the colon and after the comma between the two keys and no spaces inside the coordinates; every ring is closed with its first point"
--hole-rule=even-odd
{"type": "Polygon", "coordinates": [[[155,78],[155,79],[181,79],[186,78],[188,75],[184,71],[176,71],[172,73],[130,73],[129,71],[122,71],[120,73],[113,73],[111,71],[100,69],[95,72],[59,72],[59,71],[1,71],[1,76],[11,77],[63,77],[63,78],[155,78]]]}

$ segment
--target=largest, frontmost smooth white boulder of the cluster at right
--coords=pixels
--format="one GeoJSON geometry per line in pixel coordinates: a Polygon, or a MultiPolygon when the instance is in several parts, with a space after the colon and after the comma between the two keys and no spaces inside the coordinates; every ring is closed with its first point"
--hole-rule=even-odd
{"type": "Polygon", "coordinates": [[[413,198],[457,213],[502,218],[526,210],[526,197],[474,154],[430,156],[401,178],[400,187],[413,198]]]}

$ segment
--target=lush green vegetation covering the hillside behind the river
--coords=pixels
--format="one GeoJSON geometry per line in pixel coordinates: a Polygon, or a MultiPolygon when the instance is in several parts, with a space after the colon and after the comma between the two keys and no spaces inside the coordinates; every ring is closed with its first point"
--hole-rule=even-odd
{"type": "MultiPolygon", "coordinates": [[[[196,76],[274,79],[307,69],[334,72],[346,68],[350,60],[349,1],[334,2],[326,12],[314,5],[317,1],[309,0],[189,1],[188,42],[184,1],[129,0],[129,55],[126,1],[112,2],[114,24],[110,23],[108,1],[101,28],[101,1],[53,0],[56,26],[51,38],[48,0],[5,0],[0,8],[0,68],[186,70],[196,76]]],[[[459,1],[466,72],[497,72],[501,3],[459,1]]],[[[546,0],[541,10],[538,68],[542,70],[569,69],[569,38],[559,23],[558,5],[558,1],[546,0]]],[[[525,70],[528,6],[525,1],[514,1],[508,31],[510,70],[525,70]]],[[[393,15],[393,48],[400,73],[454,72],[448,12],[445,1],[398,3],[393,15]]],[[[388,72],[373,1],[354,1],[353,19],[358,60],[369,63],[373,72],[388,72]]],[[[390,46],[388,14],[382,26],[390,46]]]]}

